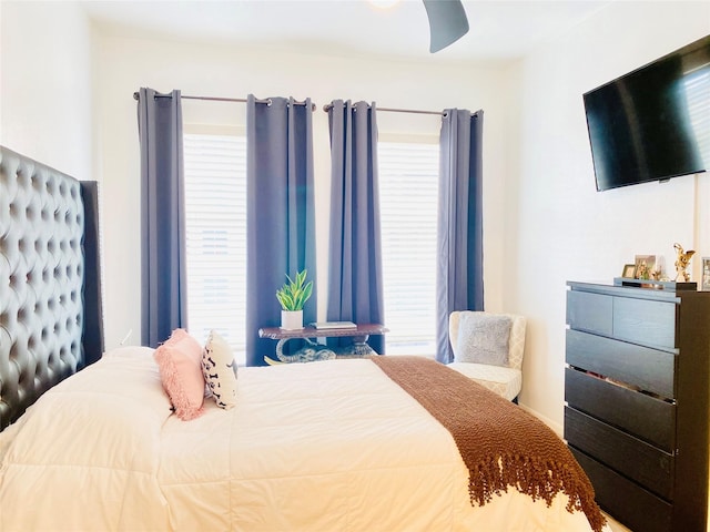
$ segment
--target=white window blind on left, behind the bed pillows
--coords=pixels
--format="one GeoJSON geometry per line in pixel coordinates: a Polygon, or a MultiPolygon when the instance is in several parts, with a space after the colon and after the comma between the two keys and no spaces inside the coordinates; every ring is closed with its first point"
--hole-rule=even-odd
{"type": "Polygon", "coordinates": [[[187,326],[215,329],[245,364],[246,139],[183,135],[187,326]]]}

